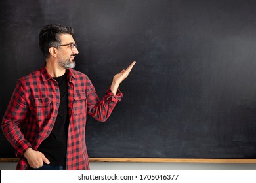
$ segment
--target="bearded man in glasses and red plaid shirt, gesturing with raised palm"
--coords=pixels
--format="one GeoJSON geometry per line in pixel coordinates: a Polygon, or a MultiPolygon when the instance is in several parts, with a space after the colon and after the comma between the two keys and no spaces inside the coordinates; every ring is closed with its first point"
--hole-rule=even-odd
{"type": "Polygon", "coordinates": [[[114,76],[99,99],[89,78],[75,71],[73,29],[47,25],[39,35],[45,65],[18,80],[1,124],[16,149],[16,169],[89,169],[86,115],[104,122],[123,94],[119,84],[135,61],[114,76]]]}

